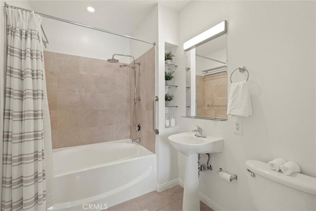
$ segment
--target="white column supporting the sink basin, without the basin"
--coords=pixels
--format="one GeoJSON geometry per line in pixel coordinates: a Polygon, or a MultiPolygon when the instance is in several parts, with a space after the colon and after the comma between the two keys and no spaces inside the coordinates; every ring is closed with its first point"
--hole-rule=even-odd
{"type": "Polygon", "coordinates": [[[199,211],[197,154],[186,155],[183,211],[199,211]]]}

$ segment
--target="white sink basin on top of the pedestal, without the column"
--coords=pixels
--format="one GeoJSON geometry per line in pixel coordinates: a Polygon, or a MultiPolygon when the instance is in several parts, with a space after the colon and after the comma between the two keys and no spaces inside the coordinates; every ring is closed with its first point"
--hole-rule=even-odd
{"type": "Polygon", "coordinates": [[[213,136],[201,138],[195,136],[195,133],[184,132],[170,135],[168,139],[172,146],[184,155],[223,151],[223,138],[213,136]]]}

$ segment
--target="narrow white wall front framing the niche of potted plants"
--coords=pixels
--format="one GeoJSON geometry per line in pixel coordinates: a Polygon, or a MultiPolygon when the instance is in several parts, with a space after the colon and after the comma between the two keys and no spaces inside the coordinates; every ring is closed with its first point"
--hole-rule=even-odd
{"type": "MultiPolygon", "coordinates": [[[[158,96],[159,96],[159,135],[156,139],[156,149],[157,149],[157,183],[158,187],[167,182],[170,182],[178,178],[178,156],[177,151],[171,146],[168,136],[174,133],[177,133],[178,127],[164,128],[165,124],[165,103],[164,103],[164,94],[165,94],[165,81],[164,81],[164,52],[165,50],[174,49],[179,45],[179,16],[178,12],[167,8],[161,4],[158,4],[158,37],[159,37],[159,46],[158,46],[158,96]],[[167,43],[165,45],[165,43],[167,43]],[[168,48],[168,49],[165,49],[168,48]]],[[[174,62],[177,63],[177,58],[174,59],[174,62]]],[[[177,71],[175,70],[175,83],[177,83],[177,71]]],[[[177,96],[178,90],[175,90],[175,97],[177,96]]],[[[177,100],[176,98],[174,99],[177,100]]],[[[176,125],[178,125],[178,115],[179,112],[176,112],[176,125]]],[[[162,190],[161,188],[158,190],[162,190]]]]}

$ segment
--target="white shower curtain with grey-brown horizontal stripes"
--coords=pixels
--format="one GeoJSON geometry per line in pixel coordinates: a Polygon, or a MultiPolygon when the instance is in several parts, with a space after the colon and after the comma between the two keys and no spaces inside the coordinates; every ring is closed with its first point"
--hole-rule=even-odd
{"type": "Polygon", "coordinates": [[[53,174],[41,17],[12,8],[6,14],[2,210],[44,211],[53,204],[53,174]]]}

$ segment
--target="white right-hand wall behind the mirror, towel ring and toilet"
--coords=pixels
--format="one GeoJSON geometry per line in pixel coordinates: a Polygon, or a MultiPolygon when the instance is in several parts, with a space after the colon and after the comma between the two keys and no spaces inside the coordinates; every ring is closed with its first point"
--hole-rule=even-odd
{"type": "MultiPolygon", "coordinates": [[[[223,152],[212,155],[213,171],[201,172],[199,182],[200,192],[226,210],[255,210],[244,167],[248,159],[283,157],[316,175],[315,18],[315,1],[192,1],[180,11],[180,46],[226,19],[228,76],[241,65],[250,73],[253,115],[242,120],[242,135],[233,134],[232,118],[181,120],[181,131],[199,125],[207,135],[224,138],[223,152]],[[238,180],[219,179],[220,167],[238,180]]],[[[176,56],[185,64],[183,51],[176,56]]],[[[182,76],[185,83],[184,70],[182,76]]],[[[183,164],[179,154],[181,179],[183,164]]]]}

